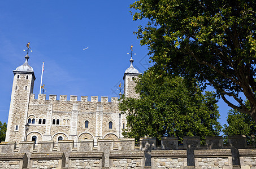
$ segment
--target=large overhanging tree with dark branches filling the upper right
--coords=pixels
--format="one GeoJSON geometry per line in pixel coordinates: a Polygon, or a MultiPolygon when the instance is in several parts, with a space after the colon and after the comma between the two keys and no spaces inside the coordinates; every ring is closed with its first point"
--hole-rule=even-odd
{"type": "Polygon", "coordinates": [[[130,7],[139,10],[133,20],[149,20],[136,34],[157,73],[213,86],[228,106],[256,121],[255,1],[140,0],[130,7]]]}

